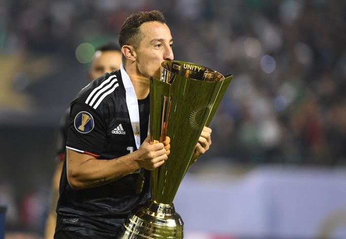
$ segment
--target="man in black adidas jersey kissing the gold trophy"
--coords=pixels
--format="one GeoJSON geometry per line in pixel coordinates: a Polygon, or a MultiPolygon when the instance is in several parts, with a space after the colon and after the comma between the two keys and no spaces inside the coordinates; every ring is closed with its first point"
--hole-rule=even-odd
{"type": "MultiPolygon", "coordinates": [[[[129,212],[149,198],[149,170],[167,160],[170,147],[168,137],[154,144],[147,137],[149,76],[158,78],[161,62],[173,60],[172,44],[160,12],[132,14],[119,33],[120,70],[71,103],[55,238],[116,238],[129,212]]],[[[194,158],[210,144],[205,127],[194,158]]]]}

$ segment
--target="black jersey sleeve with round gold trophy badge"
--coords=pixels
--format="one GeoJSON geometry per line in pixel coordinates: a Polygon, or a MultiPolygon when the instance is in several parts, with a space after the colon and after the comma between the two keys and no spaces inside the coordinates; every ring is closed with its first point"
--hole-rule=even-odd
{"type": "Polygon", "coordinates": [[[98,157],[106,143],[106,129],[100,112],[87,104],[73,103],[66,148],[98,157]]]}

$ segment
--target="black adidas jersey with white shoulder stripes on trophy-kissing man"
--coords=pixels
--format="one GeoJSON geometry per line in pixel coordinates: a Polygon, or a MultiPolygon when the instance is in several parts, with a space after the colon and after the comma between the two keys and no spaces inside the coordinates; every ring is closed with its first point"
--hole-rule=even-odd
{"type": "MultiPolygon", "coordinates": [[[[141,136],[146,136],[149,96],[138,104],[141,136]]],[[[71,103],[69,124],[66,147],[72,150],[110,160],[136,149],[120,70],[103,74],[80,91],[71,103]]],[[[144,140],[141,137],[141,143],[144,140]]],[[[132,173],[106,185],[74,190],[67,182],[64,162],[56,231],[116,238],[129,212],[149,198],[149,171],[141,194],[135,193],[138,177],[132,173]]]]}

